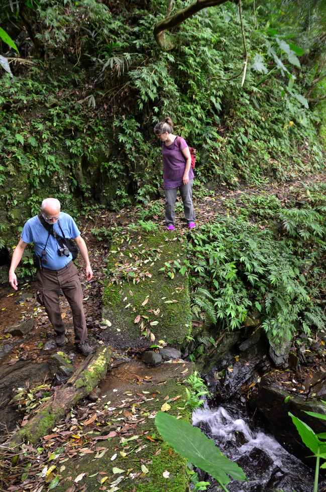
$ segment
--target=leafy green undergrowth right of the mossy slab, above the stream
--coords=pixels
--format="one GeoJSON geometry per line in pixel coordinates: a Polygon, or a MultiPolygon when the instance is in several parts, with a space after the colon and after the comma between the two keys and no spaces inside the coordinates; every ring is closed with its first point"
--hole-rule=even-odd
{"type": "Polygon", "coordinates": [[[324,330],[325,185],[310,185],[301,208],[243,193],[228,214],[189,245],[194,312],[228,328],[259,318],[273,344],[298,330],[324,330]],[[262,225],[264,224],[264,225],[262,225]]]}

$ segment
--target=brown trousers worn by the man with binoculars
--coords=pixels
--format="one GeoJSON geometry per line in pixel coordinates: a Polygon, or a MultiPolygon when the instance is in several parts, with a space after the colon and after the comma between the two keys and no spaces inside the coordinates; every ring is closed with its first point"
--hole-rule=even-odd
{"type": "Polygon", "coordinates": [[[54,331],[58,334],[65,332],[59,304],[60,289],[62,289],[72,311],[75,343],[85,341],[87,328],[82,304],[83,293],[78,271],[73,262],[71,261],[60,270],[50,270],[49,268],[38,270],[36,280],[38,285],[37,298],[41,304],[44,304],[54,331]]]}

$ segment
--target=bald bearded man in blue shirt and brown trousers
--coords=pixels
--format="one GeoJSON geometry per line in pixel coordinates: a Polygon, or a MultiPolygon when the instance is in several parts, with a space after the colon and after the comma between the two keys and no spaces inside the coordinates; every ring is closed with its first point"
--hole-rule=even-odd
{"type": "MultiPolygon", "coordinates": [[[[73,218],[67,213],[60,212],[60,202],[56,198],[43,200],[41,212],[44,220],[53,226],[54,232],[63,236],[63,231],[65,237],[74,238],[86,264],[86,280],[90,280],[93,272],[89,263],[87,247],[73,218]]],[[[58,238],[55,237],[55,234],[49,233],[42,225],[38,215],[26,222],[21,239],[14,251],[9,270],[11,286],[15,290],[18,289],[15,270],[22,259],[27,244],[30,242],[34,243],[35,254],[40,257],[42,266],[36,275],[37,298],[41,304],[44,304],[49,320],[57,334],[57,345],[62,346],[66,341],[66,328],[61,318],[59,305],[60,289],[62,289],[71,307],[77,349],[84,355],[92,353],[93,349],[86,341],[87,328],[82,304],[83,293],[77,269],[72,262],[72,255],[68,249],[61,248],[58,238]]]]}

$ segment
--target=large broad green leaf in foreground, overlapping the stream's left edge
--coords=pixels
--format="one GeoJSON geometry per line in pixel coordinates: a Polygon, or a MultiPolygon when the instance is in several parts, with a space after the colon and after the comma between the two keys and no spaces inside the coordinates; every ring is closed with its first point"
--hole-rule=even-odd
{"type": "Polygon", "coordinates": [[[245,480],[242,469],[221,453],[212,439],[208,439],[198,427],[192,427],[185,420],[177,420],[172,415],[158,412],[155,417],[157,430],[175,451],[188,459],[193,465],[207,471],[211,476],[227,485],[231,475],[235,480],[245,480]]]}

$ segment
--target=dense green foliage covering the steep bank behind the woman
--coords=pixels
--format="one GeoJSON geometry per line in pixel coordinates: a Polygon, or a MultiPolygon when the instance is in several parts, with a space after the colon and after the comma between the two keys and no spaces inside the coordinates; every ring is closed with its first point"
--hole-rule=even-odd
{"type": "Polygon", "coordinates": [[[236,187],[238,177],[286,179],[322,165],[319,114],[304,97],[323,73],[318,15],[307,30],[291,3],[283,12],[281,3],[245,2],[249,67],[241,87],[241,75],[231,78],[244,53],[234,3],[176,28],[171,52],[152,35],[165,15],[162,0],[119,7],[2,0],[2,7],[0,24],[26,57],[11,61],[13,79],[5,72],[0,79],[0,200],[9,214],[20,204],[34,213],[46,194],[70,207],[148,202],[161,185],[152,129],[166,114],[199,150],[203,182],[236,187]]]}

